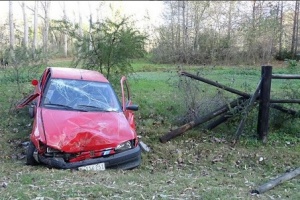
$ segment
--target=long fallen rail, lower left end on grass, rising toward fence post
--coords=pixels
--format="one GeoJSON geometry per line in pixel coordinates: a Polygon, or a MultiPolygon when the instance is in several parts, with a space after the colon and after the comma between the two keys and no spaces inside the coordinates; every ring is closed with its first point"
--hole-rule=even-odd
{"type": "Polygon", "coordinates": [[[237,106],[238,104],[240,104],[240,101],[243,101],[243,100],[245,100],[245,99],[238,98],[238,99],[232,101],[231,103],[229,103],[229,105],[224,105],[221,108],[218,108],[203,117],[197,118],[194,121],[191,121],[175,130],[168,132],[167,134],[160,137],[159,140],[160,140],[160,142],[165,143],[165,142],[169,141],[170,139],[175,138],[175,137],[179,136],[180,134],[186,132],[187,130],[190,130],[191,128],[193,128],[195,126],[205,123],[205,122],[213,119],[214,117],[217,117],[217,116],[227,112],[230,108],[237,106]]]}

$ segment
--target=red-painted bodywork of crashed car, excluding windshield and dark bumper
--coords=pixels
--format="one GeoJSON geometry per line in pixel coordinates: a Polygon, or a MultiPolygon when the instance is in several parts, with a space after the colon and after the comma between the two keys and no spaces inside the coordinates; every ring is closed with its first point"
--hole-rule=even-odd
{"type": "Polygon", "coordinates": [[[39,82],[32,81],[34,93],[23,99],[17,108],[35,102],[30,139],[39,154],[51,147],[72,154],[69,162],[76,162],[101,157],[107,149],[110,149],[110,154],[115,154],[114,148],[128,140],[134,140],[135,146],[138,145],[133,111],[126,109],[131,100],[125,77],[121,79],[123,112],[81,112],[43,107],[44,90],[52,78],[109,83],[99,72],[73,68],[46,68],[39,82]]]}

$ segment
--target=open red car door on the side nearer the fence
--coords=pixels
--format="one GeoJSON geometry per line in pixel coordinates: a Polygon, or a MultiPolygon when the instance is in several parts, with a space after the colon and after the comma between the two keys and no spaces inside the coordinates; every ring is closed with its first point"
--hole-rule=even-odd
{"type": "Polygon", "coordinates": [[[137,105],[133,105],[130,99],[130,90],[126,81],[126,77],[121,78],[121,90],[122,90],[122,109],[127,118],[130,126],[135,130],[134,112],[138,110],[137,105]]]}

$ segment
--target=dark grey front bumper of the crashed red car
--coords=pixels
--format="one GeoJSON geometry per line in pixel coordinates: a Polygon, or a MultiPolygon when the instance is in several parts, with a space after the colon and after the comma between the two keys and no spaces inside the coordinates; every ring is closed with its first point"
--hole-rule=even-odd
{"type": "Polygon", "coordinates": [[[133,169],[135,167],[138,167],[141,163],[141,148],[138,145],[134,149],[117,153],[109,157],[100,157],[72,163],[67,163],[62,158],[50,158],[43,155],[38,155],[38,160],[39,162],[57,169],[77,169],[81,166],[97,163],[105,163],[105,168],[133,169]]]}

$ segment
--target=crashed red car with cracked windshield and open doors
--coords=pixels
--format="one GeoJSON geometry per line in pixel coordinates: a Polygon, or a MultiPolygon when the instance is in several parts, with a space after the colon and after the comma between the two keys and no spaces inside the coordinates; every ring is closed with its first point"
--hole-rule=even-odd
{"type": "Polygon", "coordinates": [[[33,80],[32,95],[17,108],[30,105],[34,118],[27,149],[28,165],[60,169],[132,169],[141,163],[134,112],[126,78],[119,100],[99,72],[46,68],[33,80]]]}

